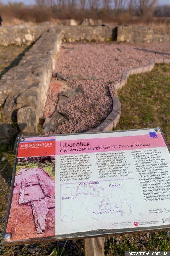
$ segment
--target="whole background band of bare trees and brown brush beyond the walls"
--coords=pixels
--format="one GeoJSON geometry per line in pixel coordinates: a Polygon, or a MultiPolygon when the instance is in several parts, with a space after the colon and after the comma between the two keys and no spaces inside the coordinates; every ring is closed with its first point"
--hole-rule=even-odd
{"type": "MultiPolygon", "coordinates": [[[[157,6],[157,0],[35,0],[33,5],[0,2],[0,14],[4,23],[10,23],[14,19],[60,23],[66,19],[80,22],[83,18],[92,18],[123,25],[139,24],[140,20],[148,20],[149,23],[154,17],[170,17],[170,5],[157,6]]],[[[169,22],[166,19],[165,23],[169,22]]]]}

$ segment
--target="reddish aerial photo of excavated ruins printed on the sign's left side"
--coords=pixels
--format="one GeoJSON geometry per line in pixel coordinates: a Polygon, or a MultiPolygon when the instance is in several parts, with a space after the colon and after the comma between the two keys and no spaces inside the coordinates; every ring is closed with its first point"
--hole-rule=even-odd
{"type": "Polygon", "coordinates": [[[55,156],[17,158],[6,233],[11,240],[55,235],[55,156]]]}

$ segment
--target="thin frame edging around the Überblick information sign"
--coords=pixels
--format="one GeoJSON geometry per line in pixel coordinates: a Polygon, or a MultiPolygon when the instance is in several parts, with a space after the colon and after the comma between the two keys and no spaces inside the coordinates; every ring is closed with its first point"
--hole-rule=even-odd
{"type": "MultiPolygon", "coordinates": [[[[130,131],[139,131],[139,130],[153,130],[156,128],[146,128],[146,129],[134,129],[134,130],[121,130],[121,131],[107,131],[107,132],[88,132],[88,133],[76,133],[76,134],[53,134],[53,135],[39,135],[39,136],[24,136],[24,138],[33,138],[33,137],[56,137],[56,136],[67,136],[70,135],[76,135],[76,136],[82,136],[84,134],[102,134],[102,133],[120,133],[120,132],[130,132],[130,131]]],[[[168,151],[170,153],[170,148],[168,146],[168,143],[164,137],[164,134],[162,130],[160,129],[160,133],[162,134],[162,137],[165,141],[165,144],[168,148],[168,151]]],[[[57,240],[72,240],[72,239],[86,239],[86,238],[92,238],[92,237],[104,237],[104,236],[115,236],[120,234],[130,234],[130,233],[141,233],[146,231],[162,231],[162,230],[169,230],[170,224],[168,225],[160,225],[160,226],[152,226],[152,227],[134,227],[134,228],[121,228],[121,229],[99,229],[99,230],[92,230],[92,231],[86,231],[86,232],[77,232],[77,233],[70,233],[65,235],[57,235],[57,236],[50,236],[50,237],[39,237],[39,238],[31,238],[31,239],[23,239],[23,240],[15,240],[10,241],[4,239],[8,218],[10,215],[10,208],[12,203],[12,196],[13,196],[13,190],[14,190],[14,181],[15,181],[15,172],[16,172],[16,162],[17,162],[17,155],[18,155],[18,146],[20,143],[21,137],[18,137],[18,143],[17,143],[17,149],[16,149],[16,155],[15,155],[15,162],[14,162],[14,168],[13,168],[13,174],[12,174],[12,180],[11,180],[11,187],[10,187],[10,194],[8,198],[8,204],[7,204],[7,211],[6,211],[6,218],[5,218],[5,224],[4,224],[4,230],[3,230],[3,237],[2,237],[2,244],[3,245],[17,245],[17,244],[23,244],[23,243],[33,243],[33,242],[50,242],[50,241],[57,241],[57,240]]]]}

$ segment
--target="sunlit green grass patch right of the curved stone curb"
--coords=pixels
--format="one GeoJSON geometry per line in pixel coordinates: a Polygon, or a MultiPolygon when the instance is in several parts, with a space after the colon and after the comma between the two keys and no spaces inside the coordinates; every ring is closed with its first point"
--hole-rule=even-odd
{"type": "Polygon", "coordinates": [[[170,65],[132,75],[118,96],[121,117],[115,130],[160,127],[170,145],[170,65]]]}

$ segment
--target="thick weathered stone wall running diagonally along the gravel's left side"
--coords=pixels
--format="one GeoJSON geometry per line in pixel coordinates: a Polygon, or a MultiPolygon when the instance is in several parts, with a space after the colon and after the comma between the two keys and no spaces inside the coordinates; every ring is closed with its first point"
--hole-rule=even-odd
{"type": "Polygon", "coordinates": [[[3,139],[11,136],[13,122],[25,134],[37,132],[61,41],[61,32],[44,32],[19,65],[2,76],[0,136],[3,139]]]}

